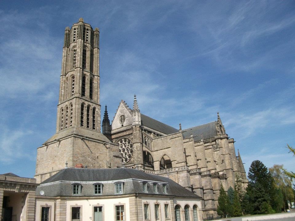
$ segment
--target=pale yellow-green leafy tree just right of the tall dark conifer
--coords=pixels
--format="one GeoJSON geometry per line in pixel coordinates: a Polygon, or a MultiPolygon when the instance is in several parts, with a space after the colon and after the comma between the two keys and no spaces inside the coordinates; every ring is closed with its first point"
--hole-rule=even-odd
{"type": "Polygon", "coordinates": [[[283,165],[273,165],[269,168],[269,172],[273,176],[274,184],[276,188],[280,189],[283,196],[282,208],[284,211],[289,208],[288,201],[294,200],[294,192],[292,189],[292,178],[284,173],[283,165]]]}

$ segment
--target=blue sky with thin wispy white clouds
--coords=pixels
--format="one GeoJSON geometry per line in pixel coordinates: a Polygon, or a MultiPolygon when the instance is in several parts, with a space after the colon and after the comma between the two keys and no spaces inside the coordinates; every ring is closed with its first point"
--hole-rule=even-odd
{"type": "MultiPolygon", "coordinates": [[[[178,128],[217,119],[253,160],[295,171],[294,1],[0,2],[0,174],[32,177],[55,133],[66,26],[100,29],[101,106],[178,128]]],[[[103,109],[103,108],[102,108],[103,109]]],[[[103,116],[103,114],[102,114],[103,116]]]]}

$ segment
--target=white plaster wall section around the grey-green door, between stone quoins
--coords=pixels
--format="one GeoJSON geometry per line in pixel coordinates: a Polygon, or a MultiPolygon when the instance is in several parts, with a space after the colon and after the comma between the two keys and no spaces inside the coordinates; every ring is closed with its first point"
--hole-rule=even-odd
{"type": "Polygon", "coordinates": [[[104,221],[114,220],[115,217],[115,206],[116,204],[125,204],[125,221],[130,221],[130,211],[129,211],[129,197],[122,198],[108,198],[108,199],[68,199],[67,200],[67,214],[66,221],[71,221],[71,206],[82,206],[82,221],[91,221],[92,220],[92,206],[103,205],[103,216],[104,221]]]}

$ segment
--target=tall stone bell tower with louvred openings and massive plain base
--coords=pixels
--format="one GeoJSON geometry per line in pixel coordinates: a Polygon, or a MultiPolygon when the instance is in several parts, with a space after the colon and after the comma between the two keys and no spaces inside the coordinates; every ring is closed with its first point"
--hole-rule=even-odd
{"type": "Polygon", "coordinates": [[[100,132],[99,30],[80,18],[66,27],[56,134],[37,149],[35,178],[59,170],[121,166],[118,145],[100,132]]]}

